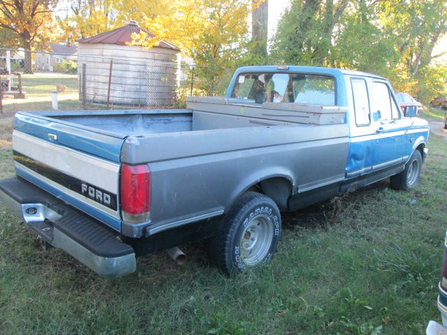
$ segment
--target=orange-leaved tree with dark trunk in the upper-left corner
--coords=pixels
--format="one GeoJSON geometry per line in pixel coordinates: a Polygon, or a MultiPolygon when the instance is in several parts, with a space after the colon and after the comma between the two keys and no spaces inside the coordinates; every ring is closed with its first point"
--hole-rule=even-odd
{"type": "Polygon", "coordinates": [[[25,73],[33,73],[31,50],[52,31],[57,0],[0,0],[0,27],[12,31],[25,51],[25,73]]]}

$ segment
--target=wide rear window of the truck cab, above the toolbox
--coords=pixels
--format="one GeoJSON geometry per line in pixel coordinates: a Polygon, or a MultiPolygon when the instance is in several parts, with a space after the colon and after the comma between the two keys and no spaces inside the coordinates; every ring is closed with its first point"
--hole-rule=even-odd
{"type": "Polygon", "coordinates": [[[231,97],[256,103],[335,105],[335,81],[325,75],[241,73],[231,97]]]}

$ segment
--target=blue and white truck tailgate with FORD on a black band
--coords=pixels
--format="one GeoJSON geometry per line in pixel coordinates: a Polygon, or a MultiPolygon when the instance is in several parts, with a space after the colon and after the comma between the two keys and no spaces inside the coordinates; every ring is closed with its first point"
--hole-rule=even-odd
{"type": "Polygon", "coordinates": [[[119,154],[123,142],[119,135],[17,113],[15,172],[119,231],[119,154]]]}

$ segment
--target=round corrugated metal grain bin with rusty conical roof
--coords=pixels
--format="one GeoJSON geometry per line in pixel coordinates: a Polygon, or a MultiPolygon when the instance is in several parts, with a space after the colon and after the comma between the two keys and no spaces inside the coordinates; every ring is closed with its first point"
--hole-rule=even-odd
{"type": "Polygon", "coordinates": [[[141,31],[154,37],[136,22],[130,22],[124,27],[79,40],[81,98],[95,103],[150,107],[168,107],[175,103],[179,49],[163,40],[150,50],[128,45],[132,34],[141,31]]]}

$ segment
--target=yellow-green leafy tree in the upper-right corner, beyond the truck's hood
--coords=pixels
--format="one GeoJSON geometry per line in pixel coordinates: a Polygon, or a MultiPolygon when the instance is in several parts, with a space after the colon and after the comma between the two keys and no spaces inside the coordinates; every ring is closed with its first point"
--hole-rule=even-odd
{"type": "MultiPolygon", "coordinates": [[[[378,9],[383,32],[393,40],[400,54],[397,64],[400,70],[392,71],[396,86],[422,101],[429,101],[439,91],[434,84],[438,76],[432,76],[437,71],[432,61],[439,55],[434,55],[433,49],[447,33],[447,3],[444,0],[383,1],[378,9]]],[[[439,73],[445,74],[445,70],[438,68],[439,73]]]]}

